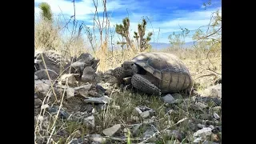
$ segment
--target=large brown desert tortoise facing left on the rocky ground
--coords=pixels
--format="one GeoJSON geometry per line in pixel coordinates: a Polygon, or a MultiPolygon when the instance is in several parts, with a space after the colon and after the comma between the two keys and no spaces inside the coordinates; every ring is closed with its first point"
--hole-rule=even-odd
{"type": "Polygon", "coordinates": [[[146,94],[174,93],[189,90],[193,79],[183,62],[174,54],[150,52],[139,54],[113,70],[122,81],[131,77],[134,88],[146,94]]]}

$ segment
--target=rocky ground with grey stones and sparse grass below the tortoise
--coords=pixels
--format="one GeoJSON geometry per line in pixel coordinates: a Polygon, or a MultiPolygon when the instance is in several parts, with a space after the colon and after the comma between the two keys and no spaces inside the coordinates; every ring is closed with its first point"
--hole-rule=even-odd
{"type": "Polygon", "coordinates": [[[96,73],[98,62],[35,54],[36,143],[222,143],[221,80],[154,97],[117,86],[111,70],[96,73]]]}

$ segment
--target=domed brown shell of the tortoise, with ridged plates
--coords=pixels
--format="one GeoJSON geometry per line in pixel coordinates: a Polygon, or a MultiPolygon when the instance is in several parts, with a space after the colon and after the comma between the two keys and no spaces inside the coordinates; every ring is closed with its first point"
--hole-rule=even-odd
{"type": "Polygon", "coordinates": [[[132,62],[146,70],[147,76],[154,77],[153,83],[162,90],[162,93],[186,90],[192,86],[190,71],[174,54],[144,53],[134,57],[132,62]]]}

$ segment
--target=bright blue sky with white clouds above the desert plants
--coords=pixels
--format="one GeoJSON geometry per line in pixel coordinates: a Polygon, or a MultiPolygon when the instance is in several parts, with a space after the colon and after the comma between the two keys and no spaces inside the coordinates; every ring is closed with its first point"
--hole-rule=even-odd
{"type": "MultiPolygon", "coordinates": [[[[74,15],[73,0],[34,0],[35,17],[38,18],[38,4],[47,2],[55,15],[62,14],[65,19],[74,15]]],[[[96,1],[96,0],[95,0],[96,1]]],[[[202,6],[207,0],[106,0],[106,7],[110,19],[110,26],[122,23],[122,18],[129,14],[130,34],[137,31],[138,22],[142,18],[150,20],[147,24],[147,32],[154,30],[154,35],[150,42],[166,42],[168,36],[173,32],[181,32],[181,27],[189,30],[197,30],[200,26],[206,26],[210,22],[211,14],[216,10],[222,10],[220,0],[212,0],[212,6],[206,10],[202,6]],[[159,36],[158,31],[160,28],[159,36]]],[[[93,26],[94,3],[92,0],[75,1],[76,18],[79,22],[84,22],[86,26],[93,26]]],[[[102,0],[98,0],[99,18],[102,19],[102,0]]],[[[35,19],[36,19],[35,18],[35,19]]],[[[191,33],[193,34],[193,33],[191,33]]],[[[191,35],[185,39],[186,42],[192,42],[191,35]]],[[[118,40],[117,34],[114,40],[118,40]]]]}

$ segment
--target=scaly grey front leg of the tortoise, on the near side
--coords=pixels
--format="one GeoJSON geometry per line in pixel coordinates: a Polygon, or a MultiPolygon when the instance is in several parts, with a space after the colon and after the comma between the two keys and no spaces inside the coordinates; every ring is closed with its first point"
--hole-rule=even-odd
{"type": "Polygon", "coordinates": [[[158,94],[161,95],[161,90],[157,86],[154,86],[149,80],[142,77],[140,74],[134,74],[131,78],[131,84],[134,88],[146,93],[146,94],[158,94]]]}

